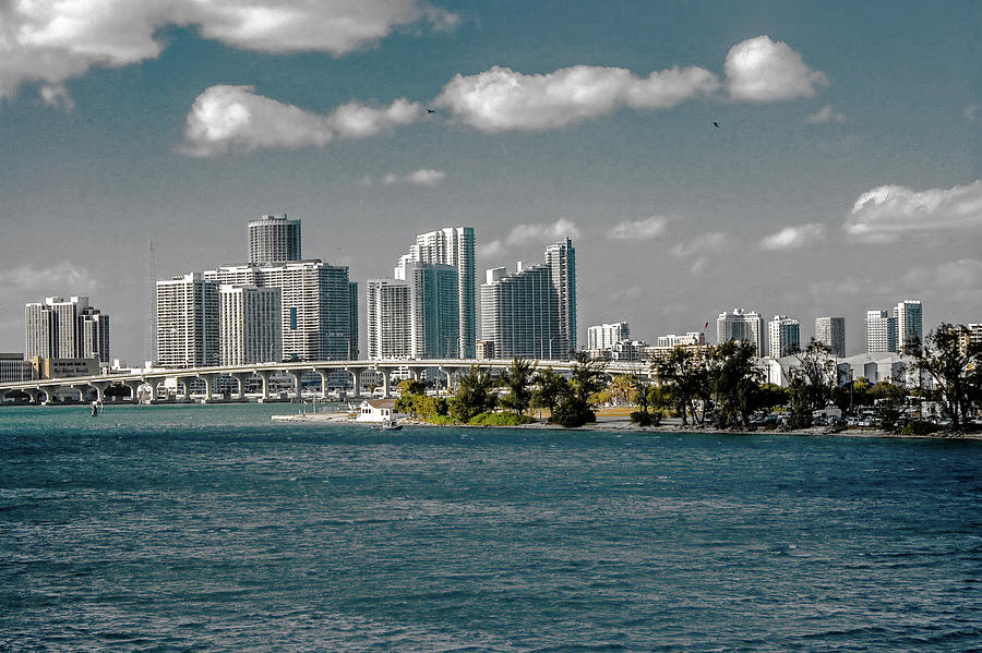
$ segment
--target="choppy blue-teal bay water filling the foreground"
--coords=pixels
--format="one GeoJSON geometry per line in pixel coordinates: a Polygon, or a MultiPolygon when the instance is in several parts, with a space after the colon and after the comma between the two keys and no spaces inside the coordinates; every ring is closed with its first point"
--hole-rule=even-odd
{"type": "Polygon", "coordinates": [[[982,443],[0,409],[2,651],[982,648],[982,443]]]}

